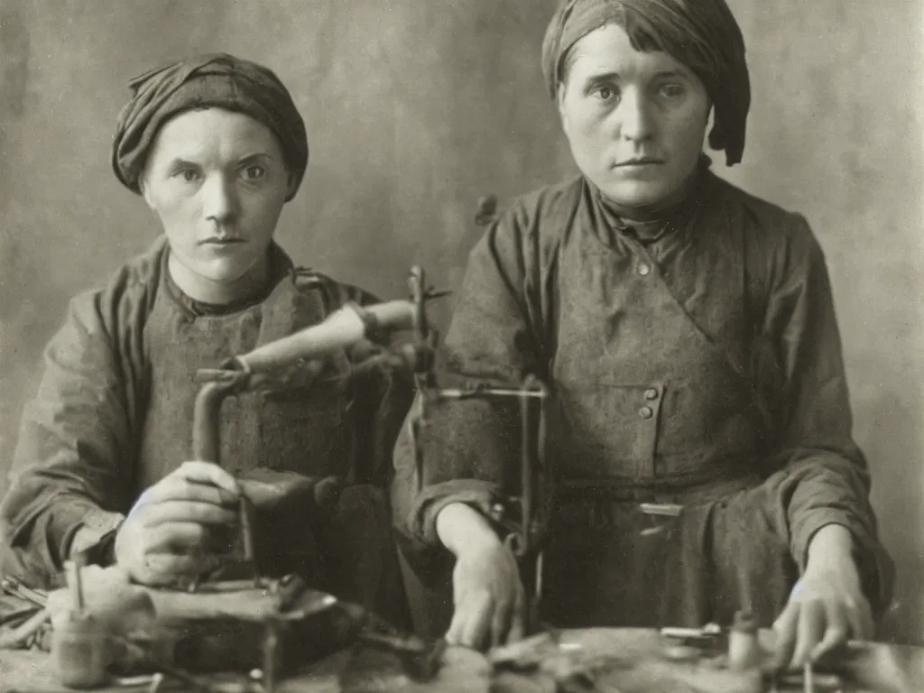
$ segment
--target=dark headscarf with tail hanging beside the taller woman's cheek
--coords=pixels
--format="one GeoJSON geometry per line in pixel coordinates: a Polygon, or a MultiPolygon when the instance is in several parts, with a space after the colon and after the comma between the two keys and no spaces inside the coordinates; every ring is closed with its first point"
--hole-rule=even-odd
{"type": "MultiPolygon", "coordinates": [[[[741,30],[725,0],[565,0],[542,43],[542,72],[554,98],[562,58],[584,36],[614,21],[635,48],[638,33],[689,67],[715,108],[709,135],[728,165],[741,161],[750,107],[750,79],[741,30]]],[[[645,47],[650,50],[650,47],[645,47]]]]}

